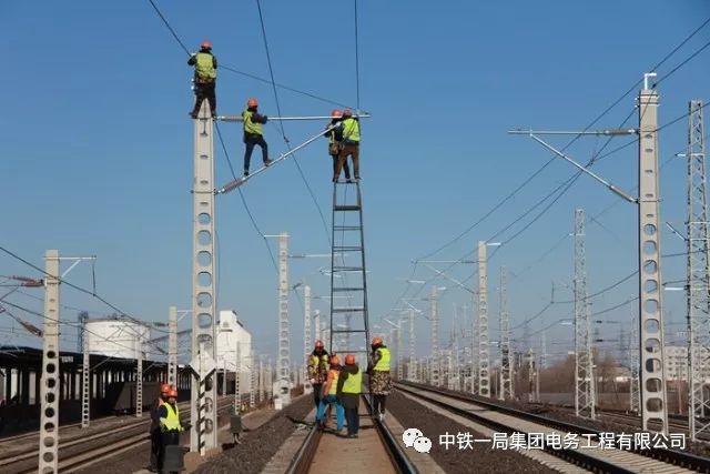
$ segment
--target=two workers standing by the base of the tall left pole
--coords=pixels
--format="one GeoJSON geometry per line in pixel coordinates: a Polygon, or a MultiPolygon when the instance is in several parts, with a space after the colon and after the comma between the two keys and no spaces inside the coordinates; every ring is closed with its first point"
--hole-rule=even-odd
{"type": "Polygon", "coordinates": [[[160,396],[151,406],[150,472],[165,472],[165,446],[180,445],[180,433],[183,431],[178,407],[178,390],[163,383],[160,386],[160,396]]]}

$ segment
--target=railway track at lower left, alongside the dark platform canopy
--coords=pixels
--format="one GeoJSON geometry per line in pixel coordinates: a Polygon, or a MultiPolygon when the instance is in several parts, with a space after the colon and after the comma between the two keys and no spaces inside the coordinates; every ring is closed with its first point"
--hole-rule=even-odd
{"type": "MultiPolygon", "coordinates": [[[[231,407],[231,399],[219,402],[217,414],[225,413],[231,407]]],[[[189,403],[180,404],[182,420],[190,421],[189,403]]],[[[149,425],[151,421],[140,420],[120,427],[108,427],[105,431],[90,436],[75,437],[59,444],[59,472],[71,473],[88,467],[100,458],[106,458],[135,448],[150,442],[149,425]]],[[[37,434],[36,434],[37,436],[37,434]]],[[[34,443],[39,444],[39,443],[34,443]]],[[[29,448],[20,453],[11,453],[0,457],[0,472],[3,474],[30,474],[37,472],[39,448],[29,448]]]]}

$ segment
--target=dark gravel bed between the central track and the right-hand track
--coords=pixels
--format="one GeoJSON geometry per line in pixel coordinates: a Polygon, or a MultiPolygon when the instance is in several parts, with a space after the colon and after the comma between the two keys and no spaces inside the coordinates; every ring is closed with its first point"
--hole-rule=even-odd
{"type": "Polygon", "coordinates": [[[453,420],[434,413],[418,403],[412,402],[394,391],[387,400],[387,411],[402,423],[405,428],[417,427],[432,440],[430,455],[444,471],[449,474],[480,473],[556,473],[535,461],[513,451],[493,450],[489,443],[474,443],[473,450],[459,450],[457,445],[439,445],[440,434],[456,435],[469,432],[474,437],[484,438],[480,433],[471,431],[453,420]]]}

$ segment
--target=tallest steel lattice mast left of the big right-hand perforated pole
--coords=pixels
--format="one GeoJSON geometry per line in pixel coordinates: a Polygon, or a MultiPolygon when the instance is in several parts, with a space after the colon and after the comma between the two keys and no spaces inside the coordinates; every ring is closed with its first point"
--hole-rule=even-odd
{"type": "Polygon", "coordinates": [[[575,413],[595,418],[594,356],[587,295],[585,211],[575,210],[575,413]]]}

